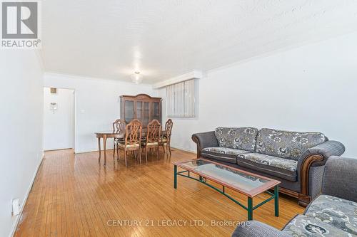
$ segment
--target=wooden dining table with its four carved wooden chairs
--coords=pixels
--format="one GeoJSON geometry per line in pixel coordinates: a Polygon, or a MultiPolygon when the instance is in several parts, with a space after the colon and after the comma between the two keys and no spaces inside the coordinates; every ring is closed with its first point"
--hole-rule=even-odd
{"type": "Polygon", "coordinates": [[[114,162],[121,159],[121,152],[124,153],[124,162],[127,167],[127,160],[136,159],[141,163],[142,159],[148,162],[148,153],[154,154],[159,159],[159,152],[162,149],[164,154],[171,156],[171,132],[173,127],[171,119],[161,125],[159,120],[151,120],[144,125],[138,119],[126,123],[124,119],[115,120],[112,130],[109,132],[95,132],[98,139],[99,163],[101,162],[101,140],[103,141],[104,166],[107,158],[107,140],[113,139],[113,159],[114,162]],[[154,150],[154,152],[153,152],[154,150]]]}

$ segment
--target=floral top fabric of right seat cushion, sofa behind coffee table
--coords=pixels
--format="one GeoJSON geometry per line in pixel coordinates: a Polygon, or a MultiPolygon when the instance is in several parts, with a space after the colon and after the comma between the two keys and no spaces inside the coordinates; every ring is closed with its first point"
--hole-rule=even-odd
{"type": "Polygon", "coordinates": [[[277,167],[280,169],[287,169],[291,172],[296,172],[296,167],[298,165],[298,162],[292,159],[283,159],[259,153],[239,154],[238,159],[248,159],[251,162],[265,164],[267,166],[277,167]]]}

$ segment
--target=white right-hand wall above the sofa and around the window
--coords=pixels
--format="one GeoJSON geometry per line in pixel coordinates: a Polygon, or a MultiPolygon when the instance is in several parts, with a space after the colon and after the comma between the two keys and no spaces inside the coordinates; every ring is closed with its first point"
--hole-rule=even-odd
{"type": "Polygon", "coordinates": [[[324,132],[357,157],[356,42],[353,33],[208,71],[198,117],[174,119],[172,146],[195,151],[191,135],[218,126],[271,127],[324,132]]]}

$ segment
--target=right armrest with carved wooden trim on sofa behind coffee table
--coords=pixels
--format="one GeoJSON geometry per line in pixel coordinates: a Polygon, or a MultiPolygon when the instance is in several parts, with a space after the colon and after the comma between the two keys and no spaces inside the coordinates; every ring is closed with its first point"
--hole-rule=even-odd
{"type": "MultiPolygon", "coordinates": [[[[309,185],[308,176],[310,167],[323,166],[326,164],[328,157],[340,156],[345,152],[345,146],[341,142],[326,141],[318,144],[316,147],[311,147],[304,152],[298,159],[298,180],[301,184],[302,196],[299,200],[306,199],[306,203],[311,201],[311,194],[308,193],[309,185]]],[[[322,177],[320,177],[322,183],[322,177]]]]}

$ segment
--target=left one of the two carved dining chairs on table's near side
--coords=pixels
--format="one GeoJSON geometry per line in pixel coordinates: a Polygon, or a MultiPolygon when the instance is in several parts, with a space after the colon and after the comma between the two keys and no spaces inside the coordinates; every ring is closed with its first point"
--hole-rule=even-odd
{"type": "MultiPolygon", "coordinates": [[[[143,125],[139,120],[132,120],[125,126],[125,139],[124,142],[118,142],[119,149],[124,150],[124,159],[126,166],[126,152],[139,151],[139,162],[141,163],[141,131],[143,125]]],[[[118,154],[119,159],[119,154],[118,154]]]]}

